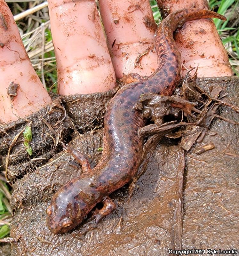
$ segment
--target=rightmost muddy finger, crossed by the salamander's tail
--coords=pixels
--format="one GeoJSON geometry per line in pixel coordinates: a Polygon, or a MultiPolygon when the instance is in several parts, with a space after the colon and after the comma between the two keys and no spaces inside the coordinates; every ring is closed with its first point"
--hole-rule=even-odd
{"type": "MultiPolygon", "coordinates": [[[[163,16],[182,8],[196,7],[208,10],[206,0],[157,0],[157,2],[163,16]]],[[[212,20],[186,22],[175,33],[175,40],[181,53],[183,76],[189,69],[197,66],[198,77],[233,75],[227,52],[212,20]]]]}

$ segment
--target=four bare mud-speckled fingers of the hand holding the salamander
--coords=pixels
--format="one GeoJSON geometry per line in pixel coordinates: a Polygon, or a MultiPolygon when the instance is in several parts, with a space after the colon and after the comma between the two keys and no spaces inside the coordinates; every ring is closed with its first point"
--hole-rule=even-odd
{"type": "MultiPolygon", "coordinates": [[[[0,122],[8,123],[50,104],[51,98],[31,67],[10,10],[4,0],[0,4],[0,122]]],[[[158,4],[163,15],[184,7],[207,8],[206,0],[158,4]]],[[[107,91],[116,86],[116,78],[120,79],[123,73],[148,76],[157,68],[156,25],[148,1],[99,1],[99,6],[107,40],[95,1],[49,1],[61,95],[107,91]]],[[[182,56],[182,75],[197,66],[199,77],[233,74],[211,20],[187,22],[175,39],[182,56]]]]}

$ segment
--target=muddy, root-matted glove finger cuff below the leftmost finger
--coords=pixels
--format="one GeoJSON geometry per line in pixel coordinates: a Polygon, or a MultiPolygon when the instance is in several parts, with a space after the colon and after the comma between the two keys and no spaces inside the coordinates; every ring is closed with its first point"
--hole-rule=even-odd
{"type": "Polygon", "coordinates": [[[46,163],[59,149],[59,141],[67,139],[73,127],[60,99],[27,118],[0,125],[0,155],[3,156],[3,164],[8,166],[7,180],[12,183],[18,176],[46,163]],[[32,131],[31,157],[23,144],[23,131],[27,125],[32,131]]]}

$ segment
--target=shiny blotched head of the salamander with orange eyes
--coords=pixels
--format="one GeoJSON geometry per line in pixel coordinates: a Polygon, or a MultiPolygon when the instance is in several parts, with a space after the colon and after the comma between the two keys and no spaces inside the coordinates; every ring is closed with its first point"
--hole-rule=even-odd
{"type": "Polygon", "coordinates": [[[46,209],[47,226],[52,233],[66,233],[84,220],[95,205],[85,203],[91,196],[89,192],[91,191],[84,186],[84,182],[76,178],[54,194],[51,204],[46,209]]]}

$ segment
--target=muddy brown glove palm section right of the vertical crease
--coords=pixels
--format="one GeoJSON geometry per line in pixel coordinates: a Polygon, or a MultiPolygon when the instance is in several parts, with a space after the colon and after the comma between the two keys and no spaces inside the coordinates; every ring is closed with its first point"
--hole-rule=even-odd
{"type": "MultiPolygon", "coordinates": [[[[239,79],[233,77],[198,79],[208,92],[226,87],[225,102],[238,106],[239,79]]],[[[222,117],[239,122],[239,116],[220,107],[222,117]]],[[[239,248],[238,137],[239,126],[215,119],[203,141],[187,153],[184,181],[182,247],[239,248]],[[216,132],[216,135],[213,135],[216,132]],[[197,155],[197,149],[213,143],[214,149],[197,155]]],[[[238,255],[238,254],[235,254],[238,255]]]]}

